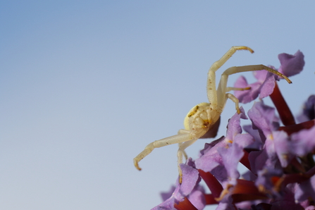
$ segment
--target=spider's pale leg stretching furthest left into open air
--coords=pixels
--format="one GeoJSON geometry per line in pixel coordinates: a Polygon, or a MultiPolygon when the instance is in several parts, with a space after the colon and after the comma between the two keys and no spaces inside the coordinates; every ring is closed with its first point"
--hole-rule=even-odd
{"type": "Polygon", "coordinates": [[[151,142],[150,144],[147,145],[147,147],[144,148],[144,150],[142,152],[140,152],[140,154],[138,154],[135,157],[135,159],[133,159],[133,163],[135,164],[135,168],[137,168],[139,171],[141,170],[141,168],[139,167],[139,164],[138,164],[139,161],[141,161],[142,159],[144,159],[145,156],[150,154],[154,148],[164,147],[164,146],[167,146],[169,144],[177,144],[177,143],[181,143],[181,142],[187,142],[190,140],[191,140],[190,132],[187,132],[185,134],[173,135],[171,137],[166,137],[166,138],[163,138],[161,140],[151,142]]]}

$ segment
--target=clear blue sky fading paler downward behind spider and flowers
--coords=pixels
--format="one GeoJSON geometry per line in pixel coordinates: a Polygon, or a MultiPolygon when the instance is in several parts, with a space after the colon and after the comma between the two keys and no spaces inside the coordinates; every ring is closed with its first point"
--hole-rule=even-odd
{"type": "MultiPolygon", "coordinates": [[[[279,86],[292,112],[314,94],[312,1],[3,1],[0,7],[0,209],[151,209],[177,178],[175,135],[207,101],[209,67],[304,71],[279,86]]],[[[222,71],[218,70],[217,78],[222,71]]],[[[252,80],[252,73],[244,73],[252,80]]],[[[239,75],[230,77],[229,84],[239,75]]],[[[271,104],[266,99],[266,104],[271,104]]],[[[250,109],[245,106],[245,110],[250,109]]],[[[222,121],[235,113],[228,101],[222,121]]],[[[246,122],[245,122],[246,124],[246,122]]],[[[225,135],[222,124],[218,136],[225,135]]],[[[187,153],[197,157],[205,142],[187,153]]],[[[213,209],[213,207],[206,207],[213,209]]]]}

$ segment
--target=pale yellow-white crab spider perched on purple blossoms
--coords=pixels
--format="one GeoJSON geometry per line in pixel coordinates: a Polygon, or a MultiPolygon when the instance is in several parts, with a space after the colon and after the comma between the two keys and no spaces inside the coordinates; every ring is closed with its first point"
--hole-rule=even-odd
{"type": "Polygon", "coordinates": [[[192,145],[194,142],[196,142],[199,138],[205,137],[206,135],[209,136],[209,134],[207,133],[217,129],[220,115],[228,99],[231,99],[235,103],[235,109],[237,110],[237,113],[240,113],[238,99],[233,94],[227,92],[229,92],[230,90],[250,89],[250,87],[245,88],[227,87],[229,75],[264,69],[268,70],[269,72],[275,75],[285,78],[285,80],[287,80],[288,83],[292,83],[285,75],[264,65],[234,66],[228,68],[223,72],[223,74],[221,75],[221,80],[218,83],[218,89],[216,89],[216,70],[218,70],[218,68],[220,68],[224,63],[226,63],[226,61],[228,61],[228,59],[233,54],[235,54],[237,50],[248,50],[251,53],[254,53],[254,51],[249,47],[245,46],[231,47],[231,49],[229,49],[228,52],[226,52],[226,54],[222,56],[222,58],[214,62],[214,64],[212,64],[212,66],[209,69],[208,80],[206,84],[206,92],[208,95],[209,103],[204,102],[198,104],[187,113],[187,116],[185,117],[184,120],[185,129],[179,130],[178,135],[166,137],[164,139],[157,140],[155,142],[148,144],[147,147],[145,147],[144,150],[140,152],[140,154],[138,154],[135,157],[135,159],[133,159],[135,168],[141,170],[141,168],[138,165],[139,161],[141,161],[142,159],[144,159],[145,156],[150,154],[154,148],[164,147],[169,144],[178,143],[179,144],[179,149],[177,153],[178,172],[180,175],[179,182],[181,183],[183,174],[180,169],[180,163],[183,163],[183,155],[187,157],[185,154],[185,149],[192,145]]]}

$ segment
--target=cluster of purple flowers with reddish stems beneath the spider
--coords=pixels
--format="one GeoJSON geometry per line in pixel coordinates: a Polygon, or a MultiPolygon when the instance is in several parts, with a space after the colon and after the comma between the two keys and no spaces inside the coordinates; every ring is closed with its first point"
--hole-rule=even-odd
{"type": "MultiPolygon", "coordinates": [[[[301,51],[278,58],[278,71],[284,75],[303,69],[301,51]]],[[[247,112],[251,123],[241,127],[241,119],[248,119],[241,107],[241,113],[228,121],[225,137],[205,144],[198,159],[181,164],[183,183],[177,181],[163,193],[163,203],[154,210],[200,210],[209,204],[217,204],[217,210],[315,209],[315,95],[304,104],[297,124],[278,88],[279,78],[266,70],[254,75],[253,84],[244,77],[235,82],[235,87],[251,87],[235,91],[235,96],[242,103],[270,96],[275,108],[262,100],[254,102],[247,112]],[[238,163],[248,168],[245,174],[240,175],[238,163]]]]}

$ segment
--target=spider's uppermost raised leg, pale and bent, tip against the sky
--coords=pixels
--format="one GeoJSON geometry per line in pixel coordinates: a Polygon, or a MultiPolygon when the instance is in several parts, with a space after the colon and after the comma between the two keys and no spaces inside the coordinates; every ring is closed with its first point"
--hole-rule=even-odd
{"type": "Polygon", "coordinates": [[[220,68],[228,59],[235,54],[237,50],[248,50],[251,53],[254,53],[252,49],[245,46],[234,46],[231,47],[226,54],[224,54],[218,61],[214,62],[212,66],[209,68],[208,73],[208,81],[206,84],[206,92],[208,95],[208,99],[210,101],[210,108],[216,110],[218,106],[218,99],[216,93],[216,70],[220,68]]]}

